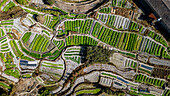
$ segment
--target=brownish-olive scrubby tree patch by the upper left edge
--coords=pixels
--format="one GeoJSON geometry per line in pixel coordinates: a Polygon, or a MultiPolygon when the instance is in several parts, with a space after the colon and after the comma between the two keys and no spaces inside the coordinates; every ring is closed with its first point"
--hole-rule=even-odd
{"type": "Polygon", "coordinates": [[[0,20],[8,20],[11,18],[17,18],[25,14],[27,13],[25,13],[21,7],[15,6],[11,8],[10,10],[8,10],[7,12],[0,12],[0,20]]]}

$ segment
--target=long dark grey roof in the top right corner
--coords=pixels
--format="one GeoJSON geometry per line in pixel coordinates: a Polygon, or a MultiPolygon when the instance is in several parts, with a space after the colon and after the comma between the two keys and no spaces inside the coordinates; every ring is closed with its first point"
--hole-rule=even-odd
{"type": "Polygon", "coordinates": [[[170,33],[170,0],[145,0],[146,3],[155,11],[157,18],[162,18],[164,27],[170,33]]]}

